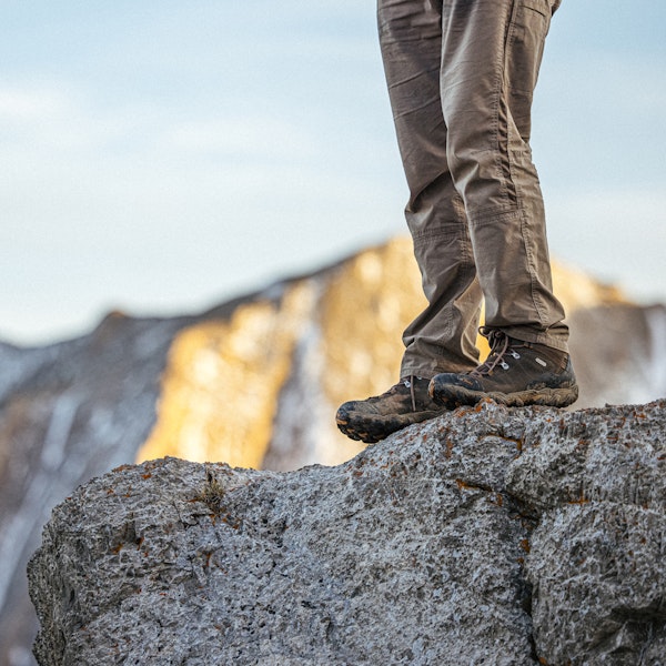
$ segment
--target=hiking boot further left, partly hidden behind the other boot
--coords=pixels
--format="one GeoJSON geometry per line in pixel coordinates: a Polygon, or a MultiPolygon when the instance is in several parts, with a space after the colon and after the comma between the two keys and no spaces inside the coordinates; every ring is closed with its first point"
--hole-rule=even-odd
{"type": "Polygon", "coordinates": [[[446,407],[428,395],[428,384],[430,380],[405,377],[382,395],[346,402],[335,414],[337,427],[352,440],[372,444],[407,425],[434,418],[446,407]]]}

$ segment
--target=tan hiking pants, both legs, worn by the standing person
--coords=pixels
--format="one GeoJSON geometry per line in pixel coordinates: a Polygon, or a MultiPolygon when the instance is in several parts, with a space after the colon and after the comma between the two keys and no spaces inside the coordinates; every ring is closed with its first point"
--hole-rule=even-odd
{"type": "Polygon", "coordinates": [[[529,149],[532,94],[559,0],[379,0],[384,69],[428,301],[402,376],[477,364],[485,323],[567,349],[529,149]]]}

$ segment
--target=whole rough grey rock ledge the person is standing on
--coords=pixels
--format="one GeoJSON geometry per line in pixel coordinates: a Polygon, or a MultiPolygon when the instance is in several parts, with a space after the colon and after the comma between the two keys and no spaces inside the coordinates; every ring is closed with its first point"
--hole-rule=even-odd
{"type": "Polygon", "coordinates": [[[485,403],[336,467],[164,458],[53,512],[42,665],[666,663],[666,401],[485,403]]]}

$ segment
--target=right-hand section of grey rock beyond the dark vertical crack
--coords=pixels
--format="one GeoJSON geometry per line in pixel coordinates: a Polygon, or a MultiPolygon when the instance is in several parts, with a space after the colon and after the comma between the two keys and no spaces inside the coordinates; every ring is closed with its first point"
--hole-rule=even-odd
{"type": "Polygon", "coordinates": [[[508,472],[539,515],[526,574],[549,664],[666,663],[664,404],[553,421],[508,472]]]}

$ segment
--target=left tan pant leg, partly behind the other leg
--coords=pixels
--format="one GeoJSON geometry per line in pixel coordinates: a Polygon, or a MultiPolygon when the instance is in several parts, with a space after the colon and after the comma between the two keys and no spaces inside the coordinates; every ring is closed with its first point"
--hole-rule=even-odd
{"type": "Polygon", "coordinates": [[[477,363],[481,289],[465,208],[447,164],[440,99],[442,0],[379,0],[380,42],[410,189],[405,209],[428,301],[403,335],[402,376],[477,363]]]}

